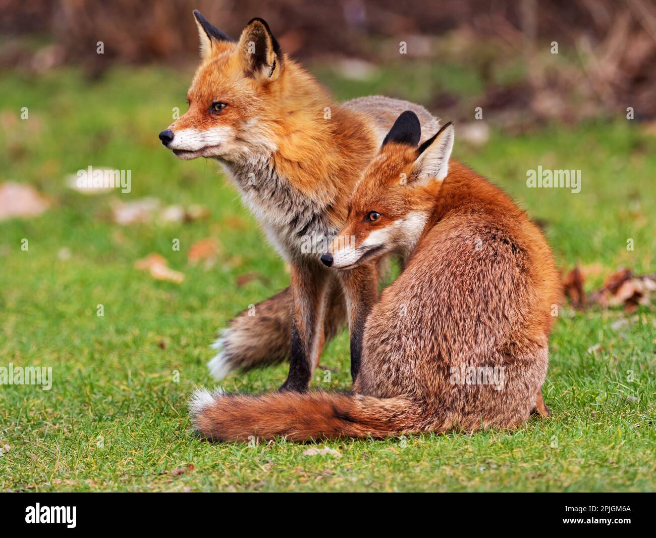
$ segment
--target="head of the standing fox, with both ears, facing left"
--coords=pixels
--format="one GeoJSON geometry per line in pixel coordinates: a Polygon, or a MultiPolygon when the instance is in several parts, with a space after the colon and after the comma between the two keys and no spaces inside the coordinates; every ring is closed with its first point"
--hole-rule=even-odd
{"type": "Polygon", "coordinates": [[[285,58],[268,24],[254,18],[234,41],[194,11],[201,64],[187,93],[189,109],[159,133],[181,159],[245,160],[272,149],[285,58]],[[267,121],[268,120],[268,121],[267,121]]]}

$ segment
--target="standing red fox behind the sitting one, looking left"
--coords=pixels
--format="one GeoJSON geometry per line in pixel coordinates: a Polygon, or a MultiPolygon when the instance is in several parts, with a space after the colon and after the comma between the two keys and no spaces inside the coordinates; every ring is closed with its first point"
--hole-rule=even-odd
{"type": "Polygon", "coordinates": [[[181,159],[220,162],[291,267],[290,288],[255,305],[255,316],[244,311],[230,321],[210,370],[220,379],[289,357],[283,388],[305,391],[325,340],[348,318],[355,376],[355,320],[371,306],[363,301],[377,287],[377,271],[362,266],[338,279],[319,261],[323,243],[344,225],[348,196],[396,117],[413,110],[426,132],[438,129],[438,120],[422,106],[386,97],[337,104],[282,53],[264,20],[251,20],[233,41],[198,11],[194,16],[202,61],[189,110],[159,138],[181,159]]]}

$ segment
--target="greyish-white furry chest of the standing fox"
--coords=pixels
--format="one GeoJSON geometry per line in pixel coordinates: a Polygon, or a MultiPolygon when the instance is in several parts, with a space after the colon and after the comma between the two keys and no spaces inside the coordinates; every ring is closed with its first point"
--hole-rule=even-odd
{"type": "Polygon", "coordinates": [[[268,239],[287,261],[318,262],[338,229],[329,222],[330,200],[312,200],[266,166],[227,167],[244,204],[262,225],[268,239]]]}

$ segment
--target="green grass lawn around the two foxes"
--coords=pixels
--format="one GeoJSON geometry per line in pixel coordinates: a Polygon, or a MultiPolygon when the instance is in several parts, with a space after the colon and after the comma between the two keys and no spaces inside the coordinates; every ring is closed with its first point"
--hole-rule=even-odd
{"type": "MultiPolygon", "coordinates": [[[[427,98],[419,83],[403,89],[384,82],[393,76],[383,73],[373,84],[325,79],[342,98],[380,89],[427,98]]],[[[39,217],[0,222],[0,366],[51,366],[54,376],[49,391],[0,386],[0,447],[10,446],[0,455],[1,490],[654,489],[656,329],[649,307],[618,330],[611,324],[623,311],[561,309],[544,386],[552,418],[532,418],[517,432],[319,443],[340,458],[302,455],[308,447],[293,443],[195,439],[185,402],[195,385],[212,384],[205,363],[213,335],[289,277],[216,166],[180,162],[157,140],[171,108],[186,108],[190,73],[123,68],[92,83],[74,70],[56,70],[0,80],[0,180],[36,185],[54,202],[39,217]],[[27,121],[18,119],[22,106],[27,121]],[[66,175],[90,164],[131,169],[131,194],[68,189],[66,175]],[[168,226],[110,221],[112,197],[143,196],[205,204],[211,214],[168,226]],[[190,246],[208,236],[222,245],[218,263],[190,265],[190,246]],[[23,238],[27,251],[20,249],[23,238]],[[174,238],[179,251],[171,248],[174,238]],[[62,248],[69,259],[58,256],[62,248]],[[150,252],[186,280],[176,285],[136,271],[134,261],[150,252]],[[245,273],[266,278],[237,285],[245,273]],[[96,315],[98,304],[104,317],[96,315]],[[171,474],[188,464],[194,468],[171,474]]],[[[599,264],[593,286],[619,265],[655,270],[655,150],[655,139],[619,118],[522,137],[493,131],[480,149],[457,142],[455,156],[546,221],[560,265],[599,264]],[[539,164],[581,169],[581,192],[527,189],[526,170],[539,164]],[[626,250],[628,238],[633,251],[626,250]]],[[[316,388],[349,387],[346,334],[327,347],[322,363],[331,381],[318,370],[316,388]]],[[[274,390],[285,375],[281,365],[234,374],[224,386],[274,390]]]]}

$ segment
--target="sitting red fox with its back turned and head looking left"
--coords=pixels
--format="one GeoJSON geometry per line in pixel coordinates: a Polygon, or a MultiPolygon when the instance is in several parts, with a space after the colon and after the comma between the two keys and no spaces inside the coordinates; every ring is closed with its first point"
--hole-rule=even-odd
{"type": "Polygon", "coordinates": [[[541,388],[552,305],[560,300],[544,236],[500,189],[450,160],[451,123],[421,145],[404,112],[363,173],[325,265],[353,271],[407,256],[364,322],[353,393],[223,395],[197,390],[208,439],[306,441],[515,428],[548,415],[541,388]]]}

